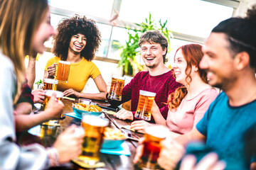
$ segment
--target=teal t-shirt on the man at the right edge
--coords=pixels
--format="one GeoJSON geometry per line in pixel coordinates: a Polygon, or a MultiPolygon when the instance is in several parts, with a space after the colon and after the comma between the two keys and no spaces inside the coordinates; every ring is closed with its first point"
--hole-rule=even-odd
{"type": "Polygon", "coordinates": [[[227,169],[250,169],[252,157],[245,154],[245,133],[255,125],[255,115],[256,100],[233,107],[222,92],[196,125],[206,136],[206,147],[214,149],[220,159],[225,160],[227,169]]]}

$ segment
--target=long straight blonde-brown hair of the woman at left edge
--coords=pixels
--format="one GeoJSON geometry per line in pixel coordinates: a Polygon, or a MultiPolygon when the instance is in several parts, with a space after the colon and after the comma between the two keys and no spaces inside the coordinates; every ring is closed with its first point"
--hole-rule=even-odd
{"type": "Polygon", "coordinates": [[[25,82],[25,56],[33,52],[33,36],[49,7],[47,0],[1,0],[0,5],[0,46],[15,67],[16,103],[25,82]]]}

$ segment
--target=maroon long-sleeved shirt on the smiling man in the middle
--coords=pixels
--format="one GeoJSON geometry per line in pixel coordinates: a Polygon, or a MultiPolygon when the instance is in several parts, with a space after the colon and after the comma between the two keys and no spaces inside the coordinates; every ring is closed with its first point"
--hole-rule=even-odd
{"type": "MultiPolygon", "coordinates": [[[[120,104],[131,101],[131,110],[135,114],[139,103],[139,90],[151,91],[156,93],[155,101],[159,106],[161,115],[166,119],[168,113],[168,106],[164,103],[167,102],[169,94],[175,91],[181,84],[178,84],[174,77],[173,72],[169,71],[158,76],[151,76],[149,72],[139,72],[135,75],[132,81],[124,86],[122,90],[122,101],[111,101],[112,106],[119,106],[120,104]]],[[[136,118],[134,118],[136,120],[136,118]]],[[[149,121],[154,123],[154,118],[151,116],[149,121]]]]}

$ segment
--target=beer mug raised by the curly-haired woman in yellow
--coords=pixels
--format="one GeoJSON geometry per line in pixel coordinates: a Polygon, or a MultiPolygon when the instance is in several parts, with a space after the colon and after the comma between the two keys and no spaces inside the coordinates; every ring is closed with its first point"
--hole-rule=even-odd
{"type": "Polygon", "coordinates": [[[57,78],[58,81],[68,83],[68,74],[70,71],[70,62],[59,61],[57,68],[57,78]]]}

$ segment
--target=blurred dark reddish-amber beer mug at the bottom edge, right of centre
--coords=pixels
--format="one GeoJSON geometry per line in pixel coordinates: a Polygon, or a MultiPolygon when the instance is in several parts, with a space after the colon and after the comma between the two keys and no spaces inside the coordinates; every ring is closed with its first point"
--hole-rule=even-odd
{"type": "Polygon", "coordinates": [[[140,169],[160,169],[156,162],[161,150],[160,142],[168,134],[169,129],[163,125],[152,125],[145,128],[144,148],[138,164],[140,169]]]}

